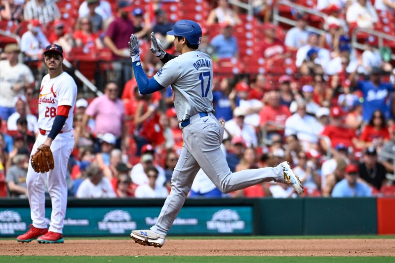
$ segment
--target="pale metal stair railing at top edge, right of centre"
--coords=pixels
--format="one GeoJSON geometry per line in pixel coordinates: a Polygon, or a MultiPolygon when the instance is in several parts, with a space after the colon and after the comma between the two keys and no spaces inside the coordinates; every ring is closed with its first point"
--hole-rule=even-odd
{"type": "MultiPolygon", "coordinates": [[[[284,17],[284,16],[280,15],[279,10],[278,10],[278,5],[280,5],[280,4],[292,7],[294,9],[298,10],[298,11],[303,11],[303,12],[308,13],[308,14],[312,14],[312,15],[316,15],[316,16],[322,17],[323,19],[326,19],[326,17],[328,16],[327,14],[325,14],[325,13],[323,13],[321,11],[318,11],[317,9],[309,8],[309,7],[306,7],[306,6],[303,6],[303,5],[300,5],[300,4],[296,4],[296,3],[293,3],[293,2],[290,2],[290,1],[287,1],[287,0],[278,0],[275,3],[274,7],[273,7],[273,22],[275,23],[275,25],[278,25],[278,23],[281,22],[281,23],[288,24],[288,25],[291,25],[291,26],[296,26],[296,21],[295,20],[292,20],[292,19],[289,19],[287,17],[284,17]]],[[[326,31],[324,31],[322,29],[318,29],[318,28],[312,27],[312,26],[306,26],[306,29],[308,31],[317,33],[319,35],[325,35],[326,34],[326,31]]]]}

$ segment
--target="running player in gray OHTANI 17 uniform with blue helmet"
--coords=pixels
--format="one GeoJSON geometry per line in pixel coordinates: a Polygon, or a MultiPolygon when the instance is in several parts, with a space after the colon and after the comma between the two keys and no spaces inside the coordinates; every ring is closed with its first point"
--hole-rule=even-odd
{"type": "Polygon", "coordinates": [[[200,167],[224,193],[269,181],[285,183],[295,188],[298,194],[303,193],[299,178],[287,162],[276,167],[237,173],[230,171],[220,148],[224,131],[213,114],[212,60],[209,55],[197,51],[201,39],[200,26],[191,20],[180,20],[167,34],[175,37],[175,50],[181,55],[174,57],[165,53],[158,40],[151,35],[151,51],[165,64],[150,79],[141,67],[137,37],[131,35],[129,42],[140,93],[150,94],[171,85],[179,126],[183,130],[184,147],[171,178],[170,194],[157,223],[151,229],[133,230],[130,234],[137,243],[154,247],[163,246],[200,167]]]}

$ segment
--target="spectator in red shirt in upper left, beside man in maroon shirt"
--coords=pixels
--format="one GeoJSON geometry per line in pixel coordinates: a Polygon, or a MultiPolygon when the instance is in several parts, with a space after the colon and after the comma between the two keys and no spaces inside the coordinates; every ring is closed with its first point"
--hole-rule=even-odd
{"type": "Polygon", "coordinates": [[[76,39],[76,45],[84,49],[103,48],[100,38],[92,32],[92,21],[87,17],[78,19],[73,38],[76,39]]]}

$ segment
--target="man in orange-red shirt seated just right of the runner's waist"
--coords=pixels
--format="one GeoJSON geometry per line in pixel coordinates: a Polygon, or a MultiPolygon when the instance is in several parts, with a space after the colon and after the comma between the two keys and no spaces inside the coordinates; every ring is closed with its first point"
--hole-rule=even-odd
{"type": "Polygon", "coordinates": [[[266,93],[266,105],[262,108],[259,113],[261,118],[259,126],[261,130],[266,129],[266,132],[270,135],[271,133],[283,134],[283,129],[268,125],[265,127],[268,121],[274,121],[279,125],[285,125],[285,120],[291,115],[288,108],[285,105],[280,105],[280,93],[277,90],[271,90],[266,93]]]}

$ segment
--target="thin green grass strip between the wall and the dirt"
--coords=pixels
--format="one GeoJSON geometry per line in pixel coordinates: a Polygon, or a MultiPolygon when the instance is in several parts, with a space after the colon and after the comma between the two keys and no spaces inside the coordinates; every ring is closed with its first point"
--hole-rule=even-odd
{"type": "MultiPolygon", "coordinates": [[[[373,239],[373,238],[385,238],[394,239],[395,235],[277,235],[277,236],[167,236],[166,239],[373,239]]],[[[1,240],[14,240],[15,237],[2,237],[1,240]]],[[[111,240],[122,240],[130,239],[128,235],[125,236],[93,236],[93,237],[68,237],[65,239],[76,240],[76,239],[111,239],[111,240]]]]}

